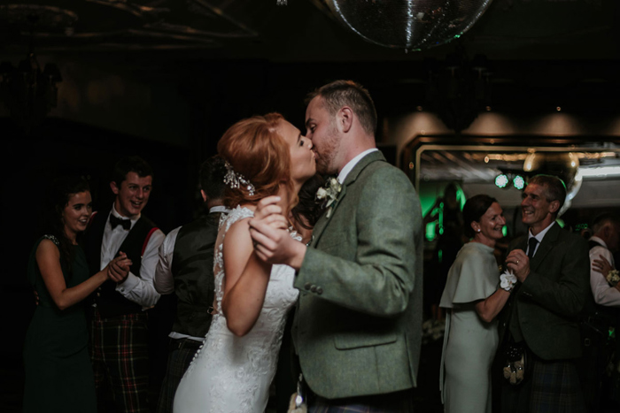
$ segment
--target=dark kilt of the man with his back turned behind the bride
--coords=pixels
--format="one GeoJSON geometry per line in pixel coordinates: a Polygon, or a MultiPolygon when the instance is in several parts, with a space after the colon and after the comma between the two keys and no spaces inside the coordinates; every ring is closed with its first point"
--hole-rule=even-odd
{"type": "Polygon", "coordinates": [[[157,413],[172,413],[174,394],[202,341],[170,339],[166,377],[161,385],[157,413]]]}

